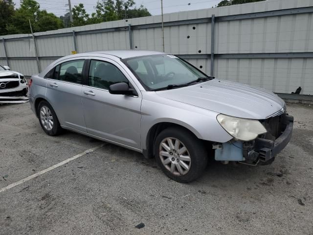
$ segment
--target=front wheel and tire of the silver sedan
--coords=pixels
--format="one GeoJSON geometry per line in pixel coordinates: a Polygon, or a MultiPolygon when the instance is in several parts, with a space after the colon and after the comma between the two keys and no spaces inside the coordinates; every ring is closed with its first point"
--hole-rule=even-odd
{"type": "Polygon", "coordinates": [[[202,141],[179,127],[169,127],[161,131],[156,137],[154,152],[156,162],[162,171],[180,183],[188,183],[199,178],[208,162],[207,151],[202,141]]]}

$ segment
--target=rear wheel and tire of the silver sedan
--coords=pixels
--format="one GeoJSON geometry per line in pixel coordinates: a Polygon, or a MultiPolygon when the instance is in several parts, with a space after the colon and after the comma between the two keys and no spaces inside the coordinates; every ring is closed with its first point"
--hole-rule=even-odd
{"type": "Polygon", "coordinates": [[[39,123],[47,135],[57,136],[63,132],[59,119],[47,101],[43,100],[39,103],[37,113],[39,123]]]}

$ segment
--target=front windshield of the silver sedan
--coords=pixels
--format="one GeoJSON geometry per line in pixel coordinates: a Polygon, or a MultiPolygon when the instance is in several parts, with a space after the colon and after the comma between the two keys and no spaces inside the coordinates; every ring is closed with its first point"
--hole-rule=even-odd
{"type": "Polygon", "coordinates": [[[208,78],[187,62],[174,55],[148,55],[124,60],[149,91],[179,86],[196,81],[199,78],[208,78]]]}

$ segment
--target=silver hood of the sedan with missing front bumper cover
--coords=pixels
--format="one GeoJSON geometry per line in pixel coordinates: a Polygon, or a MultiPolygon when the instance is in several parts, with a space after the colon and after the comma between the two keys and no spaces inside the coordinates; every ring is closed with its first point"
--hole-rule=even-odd
{"type": "Polygon", "coordinates": [[[281,98],[265,89],[220,79],[158,91],[156,94],[217,113],[249,119],[266,119],[285,105],[281,98]]]}

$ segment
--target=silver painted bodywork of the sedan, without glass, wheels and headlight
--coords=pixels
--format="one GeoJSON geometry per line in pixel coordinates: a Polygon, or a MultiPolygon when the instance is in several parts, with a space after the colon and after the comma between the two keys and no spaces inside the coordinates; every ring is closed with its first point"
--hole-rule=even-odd
{"type": "Polygon", "coordinates": [[[142,152],[147,148],[149,130],[158,123],[175,123],[189,129],[201,140],[223,143],[233,138],[218,123],[218,114],[265,119],[285,105],[277,95],[264,89],[218,79],[179,89],[146,91],[120,59],[151,54],[162,52],[99,51],[60,58],[42,73],[32,76],[31,108],[35,111],[35,100],[45,98],[62,127],[142,152]],[[138,97],[110,94],[104,89],[44,78],[56,65],[81,58],[110,61],[129,79],[138,97]],[[67,83],[54,87],[54,90],[62,89],[63,98],[55,97],[59,93],[52,93],[50,82],[67,83]],[[95,95],[90,97],[84,91],[92,91],[95,95]],[[79,117],[68,121],[69,116],[74,115],[79,117]]]}

